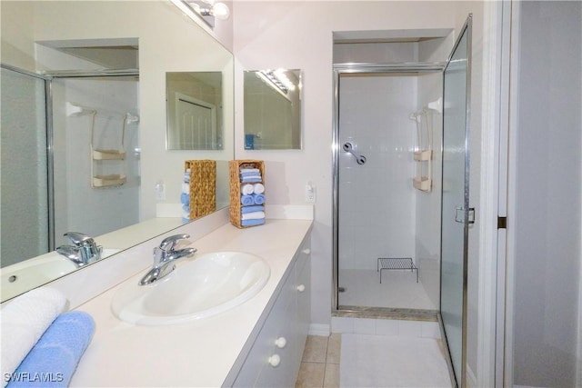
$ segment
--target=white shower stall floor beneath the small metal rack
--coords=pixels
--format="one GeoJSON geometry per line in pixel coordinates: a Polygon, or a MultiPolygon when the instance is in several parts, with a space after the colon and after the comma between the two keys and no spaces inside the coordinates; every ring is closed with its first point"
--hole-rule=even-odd
{"type": "Polygon", "coordinates": [[[416,283],[416,273],[384,271],[380,275],[370,270],[340,270],[339,304],[350,306],[436,310],[422,283],[416,283]]]}

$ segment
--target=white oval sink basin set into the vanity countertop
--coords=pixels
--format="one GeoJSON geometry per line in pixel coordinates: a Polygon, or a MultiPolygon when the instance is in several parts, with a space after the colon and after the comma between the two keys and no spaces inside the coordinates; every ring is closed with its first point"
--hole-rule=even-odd
{"type": "Polygon", "coordinates": [[[127,323],[184,323],[245,303],[263,289],[270,274],[266,262],[253,254],[200,254],[156,283],[122,285],[111,308],[127,323]]]}

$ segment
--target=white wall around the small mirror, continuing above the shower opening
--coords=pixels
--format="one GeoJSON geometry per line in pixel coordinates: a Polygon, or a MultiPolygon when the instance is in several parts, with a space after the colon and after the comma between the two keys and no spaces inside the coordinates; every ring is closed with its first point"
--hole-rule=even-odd
{"type": "MultiPolygon", "coordinates": [[[[482,5],[471,2],[277,1],[236,2],[234,8],[236,158],[266,160],[270,204],[302,204],[306,182],[316,184],[312,320],[326,324],[331,315],[332,277],[332,33],[417,28],[456,28],[459,31],[467,13],[478,15],[482,5]],[[246,152],[243,149],[242,88],[238,87],[242,85],[242,71],[273,67],[304,71],[304,149],[246,152]]],[[[478,17],[475,27],[480,28],[478,17]]],[[[480,32],[474,35],[478,42],[480,32]]],[[[477,79],[479,58],[477,55],[477,68],[474,67],[477,79]]],[[[479,93],[479,85],[474,87],[479,93]]],[[[480,100],[474,98],[472,102],[475,104],[473,111],[478,111],[480,100]]],[[[478,114],[473,118],[478,119],[478,114]]],[[[478,130],[474,134],[478,138],[478,130]]],[[[474,145],[478,147],[478,142],[474,145]]],[[[478,162],[478,154],[474,159],[478,162]]],[[[472,176],[478,181],[478,174],[472,176]]]]}

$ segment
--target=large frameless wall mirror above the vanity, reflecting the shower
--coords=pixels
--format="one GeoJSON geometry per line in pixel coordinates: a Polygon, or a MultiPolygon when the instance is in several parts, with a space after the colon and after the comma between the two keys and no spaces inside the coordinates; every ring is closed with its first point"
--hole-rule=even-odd
{"type": "Polygon", "coordinates": [[[54,251],[66,232],[115,260],[182,225],[186,160],[216,161],[228,205],[234,58],[214,37],[167,0],[0,7],[2,301],[84,267],[54,251]],[[214,110],[210,140],[166,148],[168,90],[214,110]]]}

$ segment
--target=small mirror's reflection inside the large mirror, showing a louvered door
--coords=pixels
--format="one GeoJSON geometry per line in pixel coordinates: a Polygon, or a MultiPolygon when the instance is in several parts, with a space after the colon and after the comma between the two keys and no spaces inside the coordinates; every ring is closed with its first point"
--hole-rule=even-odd
{"type": "Polygon", "coordinates": [[[166,73],[168,150],[222,150],[221,72],[166,73]]]}

